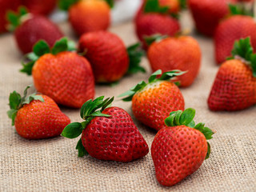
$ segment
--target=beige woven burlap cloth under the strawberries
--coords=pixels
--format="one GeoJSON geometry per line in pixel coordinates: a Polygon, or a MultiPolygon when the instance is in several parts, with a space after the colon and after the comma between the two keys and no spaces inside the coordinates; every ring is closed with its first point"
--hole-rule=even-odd
{"type": "MultiPolygon", "coordinates": [[[[191,28],[188,14],[182,25],[191,28]]],[[[61,25],[66,35],[74,38],[69,26],[61,25]]],[[[136,42],[134,26],[126,23],[110,29],[126,42],[136,42]]],[[[77,139],[50,138],[29,141],[15,133],[6,110],[11,91],[22,90],[32,78],[21,74],[20,60],[10,34],[0,37],[0,191],[256,191],[256,106],[239,112],[210,112],[206,99],[217,73],[214,47],[210,38],[194,34],[202,48],[202,68],[192,86],[182,89],[186,108],[197,110],[196,122],[206,122],[217,130],[210,140],[211,157],[194,174],[176,186],[160,186],[154,175],[150,154],[134,162],[103,162],[90,156],[78,158],[77,139]]],[[[177,50],[178,51],[178,50],[177,50]]],[[[117,96],[150,75],[146,58],[146,74],[122,78],[118,86],[96,86],[96,96],[117,96]]],[[[131,115],[131,103],[115,100],[131,115]]],[[[81,121],[79,110],[63,108],[71,121],[81,121]]],[[[132,115],[134,119],[134,116],[132,115]]],[[[151,146],[156,132],[134,119],[138,129],[151,146]]]]}

